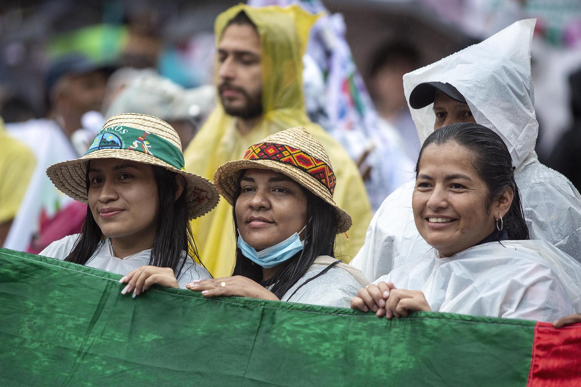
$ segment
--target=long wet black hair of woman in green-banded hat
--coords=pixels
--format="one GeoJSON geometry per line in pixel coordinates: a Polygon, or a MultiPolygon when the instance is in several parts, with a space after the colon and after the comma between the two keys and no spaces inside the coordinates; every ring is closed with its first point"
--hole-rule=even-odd
{"type": "MultiPolygon", "coordinates": [[[[183,257],[184,251],[190,256],[193,255],[192,259],[195,263],[201,264],[188,221],[186,190],[184,187],[184,192],[175,199],[175,192],[178,189],[175,173],[160,166],[152,166],[152,168],[159,196],[159,215],[149,265],[171,267],[175,277],[178,277],[186,263],[183,257]]],[[[87,192],[90,184],[88,171],[89,162],[87,162],[87,192]]],[[[103,247],[103,241],[101,228],[87,206],[83,231],[65,260],[84,265],[103,247]]]]}

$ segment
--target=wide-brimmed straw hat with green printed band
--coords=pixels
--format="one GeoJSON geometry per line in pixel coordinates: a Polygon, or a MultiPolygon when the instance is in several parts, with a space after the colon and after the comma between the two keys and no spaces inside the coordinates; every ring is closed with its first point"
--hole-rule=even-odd
{"type": "Polygon", "coordinates": [[[46,175],[60,191],[87,203],[87,162],[107,158],[160,166],[182,175],[186,181],[189,219],[209,212],[220,200],[216,187],[209,180],[185,171],[180,138],[174,128],[145,114],[125,113],[111,117],[83,157],[53,164],[46,169],[46,175]]]}

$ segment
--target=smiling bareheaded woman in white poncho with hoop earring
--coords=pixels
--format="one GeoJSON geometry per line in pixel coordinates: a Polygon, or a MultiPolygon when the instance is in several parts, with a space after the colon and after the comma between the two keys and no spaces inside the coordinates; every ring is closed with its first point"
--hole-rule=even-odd
{"type": "Polygon", "coordinates": [[[352,307],[378,317],[440,311],[553,321],[581,309],[581,264],[531,241],[507,146],[457,123],[422,145],[414,223],[431,250],[362,288],[352,307]]]}

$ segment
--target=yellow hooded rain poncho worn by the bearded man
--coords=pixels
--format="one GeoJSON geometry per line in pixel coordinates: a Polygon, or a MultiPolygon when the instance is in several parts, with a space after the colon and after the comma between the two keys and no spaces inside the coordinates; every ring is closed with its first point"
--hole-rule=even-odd
{"type": "MultiPolygon", "coordinates": [[[[256,25],[260,35],[263,77],[263,119],[252,131],[241,135],[235,118],[224,113],[218,102],[204,126],[184,152],[186,169],[211,179],[214,171],[226,162],[242,159],[250,145],[290,127],[309,130],[327,150],[337,185],[333,198],[353,218],[353,227],[336,241],[336,255],[350,261],[365,240],[371,220],[371,207],[357,167],[339,143],[316,124],[304,110],[302,88],[303,54],[309,28],[317,16],[299,6],[253,8],[237,5],[216,19],[217,42],[228,24],[244,11],[256,25]]],[[[226,200],[205,216],[192,222],[192,230],[202,261],[214,277],[232,273],[236,241],[232,207],[226,200]]]]}

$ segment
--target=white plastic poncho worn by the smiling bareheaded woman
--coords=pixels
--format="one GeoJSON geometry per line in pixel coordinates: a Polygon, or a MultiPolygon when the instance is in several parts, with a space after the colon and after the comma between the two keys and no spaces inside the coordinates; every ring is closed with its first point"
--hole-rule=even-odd
{"type": "Polygon", "coordinates": [[[546,241],[432,250],[375,281],[421,290],[433,311],[554,321],[581,309],[581,264],[546,241]]]}

